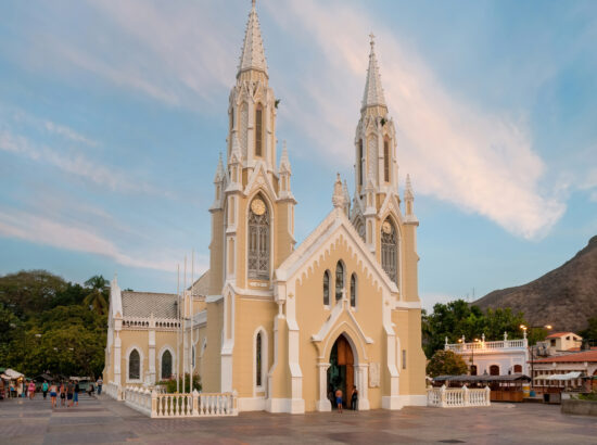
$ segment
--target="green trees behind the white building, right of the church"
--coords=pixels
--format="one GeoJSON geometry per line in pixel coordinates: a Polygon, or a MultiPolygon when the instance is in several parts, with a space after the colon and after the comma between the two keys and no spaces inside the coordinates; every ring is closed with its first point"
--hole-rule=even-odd
{"type": "MultiPolygon", "coordinates": [[[[444,348],[446,338],[448,343],[456,343],[462,335],[468,341],[481,338],[483,333],[487,341],[504,339],[504,332],[510,339],[521,338],[520,325],[525,325],[522,313],[512,314],[510,308],[483,313],[463,300],[437,303],[432,314],[422,314],[423,349],[431,357],[435,351],[444,348]]],[[[532,330],[531,334],[542,335],[541,330],[532,330]]]]}

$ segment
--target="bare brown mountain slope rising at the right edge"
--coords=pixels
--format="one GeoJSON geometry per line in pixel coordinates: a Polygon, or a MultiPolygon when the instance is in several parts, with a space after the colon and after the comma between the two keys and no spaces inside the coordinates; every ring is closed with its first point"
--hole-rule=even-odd
{"type": "Polygon", "coordinates": [[[597,316],[597,236],[557,269],[530,283],[490,292],[474,303],[482,309],[511,307],[532,326],[579,332],[597,316]]]}

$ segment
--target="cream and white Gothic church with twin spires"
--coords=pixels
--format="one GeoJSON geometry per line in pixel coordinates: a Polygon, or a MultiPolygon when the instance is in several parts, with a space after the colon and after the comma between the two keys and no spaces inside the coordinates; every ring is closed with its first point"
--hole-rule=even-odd
{"type": "Polygon", "coordinates": [[[359,409],[425,405],[419,221],[408,176],[398,194],[396,130],[373,41],[353,203],[339,177],[333,209],[296,249],[292,170],[285,144],[276,162],[278,101],[254,4],[236,78],[209,209],[209,270],[180,302],[123,292],[114,279],[104,380],[151,385],[199,372],[204,391],[236,391],[239,410],[330,410],[330,390],[350,399],[355,385],[359,409]]]}

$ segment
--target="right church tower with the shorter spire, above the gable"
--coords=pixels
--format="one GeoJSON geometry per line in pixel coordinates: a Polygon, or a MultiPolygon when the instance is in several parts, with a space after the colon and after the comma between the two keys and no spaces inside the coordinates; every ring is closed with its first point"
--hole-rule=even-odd
{"type": "Polygon", "coordinates": [[[406,275],[404,240],[406,232],[411,231],[405,224],[416,227],[418,220],[412,212],[409,179],[406,199],[410,216],[405,219],[401,212],[396,129],[381,86],[374,36],[369,37],[369,66],[355,135],[355,196],[351,219],[399,290],[401,278],[406,275]]]}

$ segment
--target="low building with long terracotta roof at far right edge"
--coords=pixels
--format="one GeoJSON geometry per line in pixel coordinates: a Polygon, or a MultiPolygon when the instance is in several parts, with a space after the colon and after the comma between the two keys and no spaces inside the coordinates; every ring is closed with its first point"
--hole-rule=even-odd
{"type": "Polygon", "coordinates": [[[580,372],[582,376],[597,376],[597,349],[581,351],[557,355],[533,361],[535,386],[582,386],[582,379],[571,381],[547,379],[550,376],[563,376],[580,372]]]}

